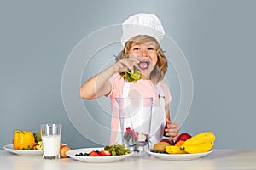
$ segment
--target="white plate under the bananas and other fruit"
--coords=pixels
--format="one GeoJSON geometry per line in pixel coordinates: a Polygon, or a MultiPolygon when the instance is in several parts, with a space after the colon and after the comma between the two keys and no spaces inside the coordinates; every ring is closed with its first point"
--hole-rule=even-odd
{"type": "Polygon", "coordinates": [[[164,153],[155,153],[152,151],[147,151],[147,152],[148,154],[163,160],[175,160],[175,161],[183,160],[184,161],[184,160],[194,160],[202,156],[207,156],[212,152],[212,150],[204,153],[198,153],[198,154],[164,154],[164,153]]]}

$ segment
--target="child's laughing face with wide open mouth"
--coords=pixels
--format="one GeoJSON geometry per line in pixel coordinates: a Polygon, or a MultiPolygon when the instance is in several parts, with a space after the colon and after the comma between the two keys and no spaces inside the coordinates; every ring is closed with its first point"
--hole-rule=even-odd
{"type": "Polygon", "coordinates": [[[157,62],[156,44],[154,42],[133,43],[128,54],[130,58],[140,61],[137,68],[142,71],[142,78],[147,79],[157,62]]]}

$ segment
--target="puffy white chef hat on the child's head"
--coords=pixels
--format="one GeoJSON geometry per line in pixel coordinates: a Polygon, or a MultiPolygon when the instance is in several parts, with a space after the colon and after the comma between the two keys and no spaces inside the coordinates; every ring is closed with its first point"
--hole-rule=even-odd
{"type": "Polygon", "coordinates": [[[154,14],[140,13],[130,16],[122,24],[122,29],[121,43],[123,46],[131,37],[137,35],[148,35],[154,37],[157,41],[160,41],[165,35],[161,21],[154,14]]]}

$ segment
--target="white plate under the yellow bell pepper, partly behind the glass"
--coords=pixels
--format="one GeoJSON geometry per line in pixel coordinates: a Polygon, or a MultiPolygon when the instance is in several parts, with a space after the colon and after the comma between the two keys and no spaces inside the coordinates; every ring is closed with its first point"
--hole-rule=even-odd
{"type": "Polygon", "coordinates": [[[43,156],[43,150],[15,150],[13,144],[7,144],[3,149],[20,156],[43,156]]]}

